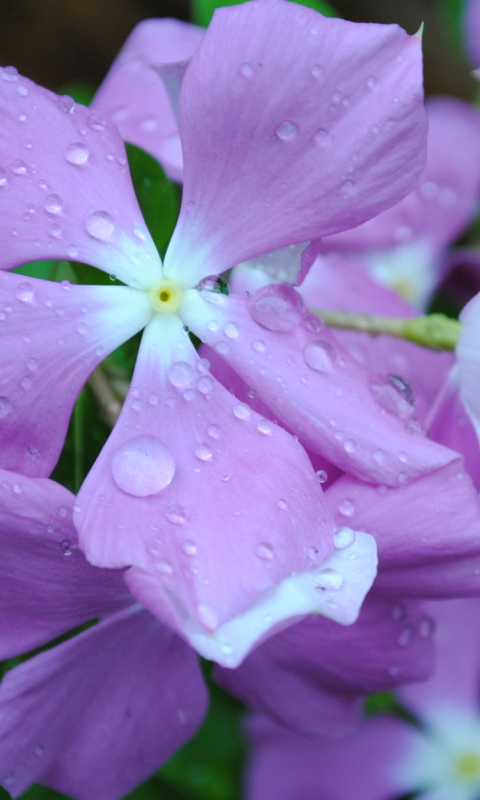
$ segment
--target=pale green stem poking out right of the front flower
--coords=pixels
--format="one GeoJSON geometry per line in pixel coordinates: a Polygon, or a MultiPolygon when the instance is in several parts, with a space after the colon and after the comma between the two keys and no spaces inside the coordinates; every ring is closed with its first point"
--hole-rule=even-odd
{"type": "Polygon", "coordinates": [[[329,328],[362,331],[371,336],[394,336],[428,347],[430,350],[455,350],[461,323],[444,314],[429,314],[425,317],[380,317],[371,314],[349,314],[330,309],[312,309],[329,328]]]}

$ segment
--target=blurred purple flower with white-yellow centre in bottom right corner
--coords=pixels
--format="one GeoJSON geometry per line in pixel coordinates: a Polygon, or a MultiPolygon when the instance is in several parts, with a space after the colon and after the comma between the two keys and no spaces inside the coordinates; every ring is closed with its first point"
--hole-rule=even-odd
{"type": "Polygon", "coordinates": [[[248,800],[387,800],[412,791],[422,800],[478,797],[480,608],[464,600],[431,609],[438,619],[434,677],[400,693],[422,727],[377,716],[351,736],[322,741],[257,718],[248,800]]]}

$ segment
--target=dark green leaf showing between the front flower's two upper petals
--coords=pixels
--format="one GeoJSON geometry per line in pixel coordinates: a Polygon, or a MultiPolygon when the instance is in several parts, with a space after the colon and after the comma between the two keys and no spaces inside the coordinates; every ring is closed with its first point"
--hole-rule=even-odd
{"type": "Polygon", "coordinates": [[[126,143],[126,149],[139,206],[163,257],[178,219],[179,189],[151,155],[129,142],[126,143]]]}

